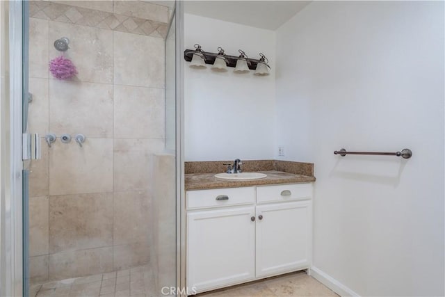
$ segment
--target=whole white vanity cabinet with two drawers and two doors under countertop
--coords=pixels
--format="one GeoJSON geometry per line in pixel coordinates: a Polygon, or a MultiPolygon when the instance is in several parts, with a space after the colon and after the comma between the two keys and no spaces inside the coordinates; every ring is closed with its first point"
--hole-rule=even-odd
{"type": "Polygon", "coordinates": [[[187,191],[186,282],[197,292],[309,268],[312,184],[187,191]]]}

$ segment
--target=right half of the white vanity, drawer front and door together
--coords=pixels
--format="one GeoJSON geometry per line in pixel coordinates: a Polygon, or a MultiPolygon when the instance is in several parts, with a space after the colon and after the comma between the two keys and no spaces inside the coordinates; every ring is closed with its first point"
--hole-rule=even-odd
{"type": "Polygon", "coordinates": [[[257,278],[311,264],[312,192],[312,184],[257,187],[257,278]]]}

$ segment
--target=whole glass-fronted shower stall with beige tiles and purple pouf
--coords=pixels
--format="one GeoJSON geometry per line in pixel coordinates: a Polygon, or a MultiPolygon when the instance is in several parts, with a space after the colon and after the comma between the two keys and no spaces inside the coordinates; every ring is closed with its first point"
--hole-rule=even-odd
{"type": "Polygon", "coordinates": [[[10,48],[21,49],[10,76],[22,90],[11,95],[11,133],[23,141],[10,152],[20,161],[10,248],[21,254],[10,294],[175,295],[181,3],[9,6],[10,48]]]}

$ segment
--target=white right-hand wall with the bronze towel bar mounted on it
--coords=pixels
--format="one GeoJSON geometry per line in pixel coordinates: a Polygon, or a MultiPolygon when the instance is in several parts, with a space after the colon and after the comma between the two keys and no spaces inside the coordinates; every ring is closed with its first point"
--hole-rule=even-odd
{"type": "Polygon", "coordinates": [[[276,88],[276,143],[315,163],[314,266],[361,296],[444,296],[444,3],[314,1],[277,30],[276,88]]]}

